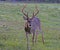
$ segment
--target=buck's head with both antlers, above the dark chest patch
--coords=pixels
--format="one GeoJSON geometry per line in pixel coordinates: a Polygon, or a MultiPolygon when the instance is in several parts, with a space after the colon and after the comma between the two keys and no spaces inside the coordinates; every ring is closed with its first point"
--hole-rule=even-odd
{"type": "Polygon", "coordinates": [[[24,12],[24,9],[26,8],[26,6],[27,6],[27,5],[25,4],[24,7],[22,8],[22,13],[24,14],[24,16],[23,16],[24,20],[26,20],[25,27],[30,27],[33,18],[39,13],[39,10],[38,10],[37,5],[36,5],[36,6],[35,6],[35,8],[36,8],[35,13],[33,12],[32,17],[29,18],[28,12],[27,12],[27,13],[24,12]]]}

